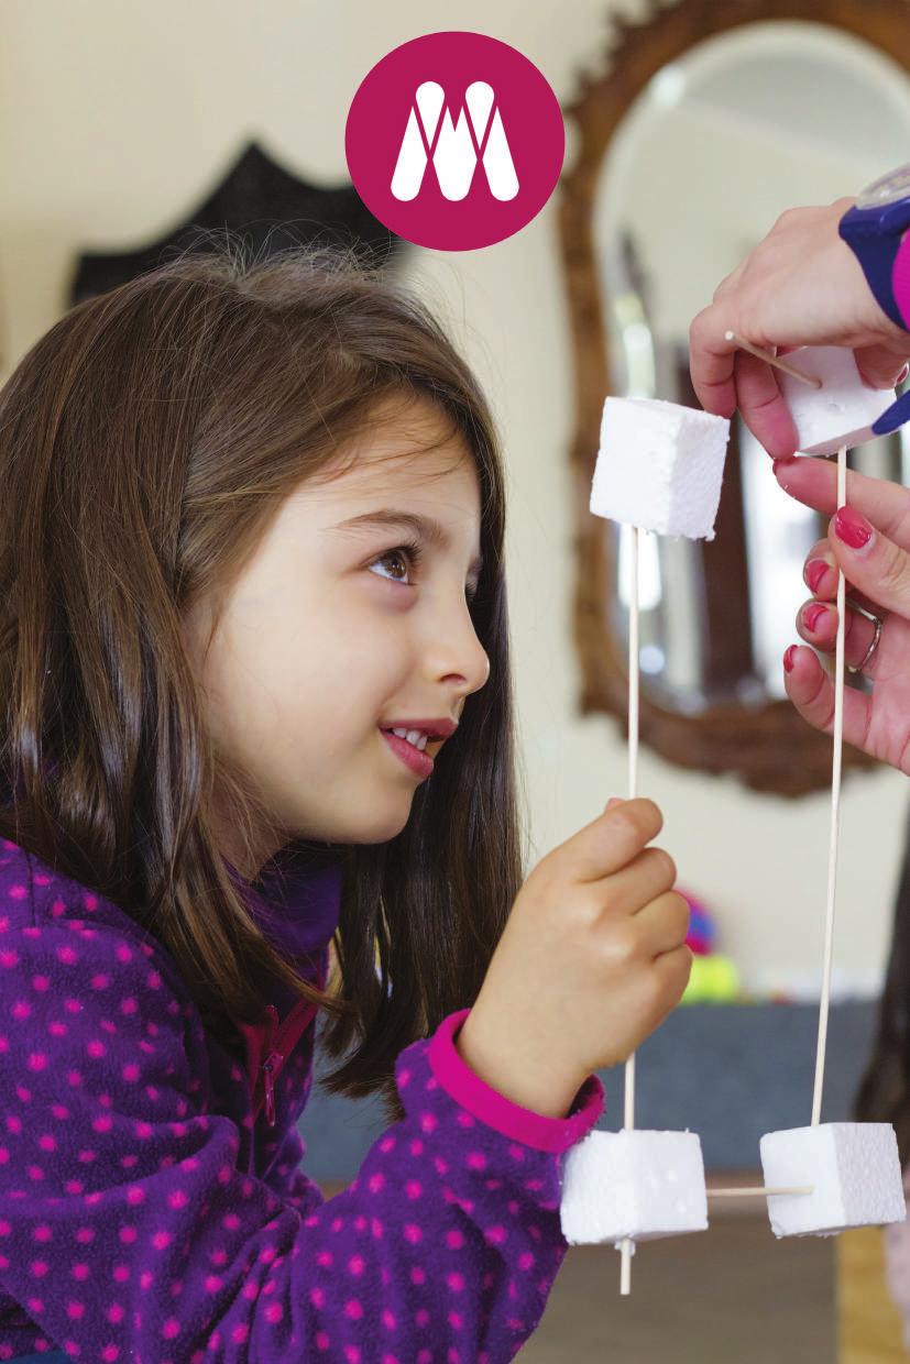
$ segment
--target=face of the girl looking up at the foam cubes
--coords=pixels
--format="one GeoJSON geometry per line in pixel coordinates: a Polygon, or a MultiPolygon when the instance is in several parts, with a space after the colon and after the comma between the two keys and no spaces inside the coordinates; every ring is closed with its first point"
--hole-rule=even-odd
{"type": "MultiPolygon", "coordinates": [[[[244,874],[295,837],[383,843],[400,833],[426,777],[382,728],[457,720],[490,675],[468,600],[480,547],[473,460],[460,436],[417,447],[443,431],[428,400],[386,404],[349,472],[308,480],[285,499],[228,599],[196,675],[216,743],[251,773],[274,814],[244,874]],[[439,522],[447,546],[401,524],[341,524],[385,509],[439,522]],[[398,548],[413,539],[416,565],[398,548]]],[[[186,625],[198,659],[205,603],[186,625]]],[[[229,846],[221,851],[231,858],[229,846]]]]}

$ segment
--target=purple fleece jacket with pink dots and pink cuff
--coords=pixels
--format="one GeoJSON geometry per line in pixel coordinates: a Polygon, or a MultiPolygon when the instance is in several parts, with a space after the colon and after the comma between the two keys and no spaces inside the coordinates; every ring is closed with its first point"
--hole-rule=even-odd
{"type": "MultiPolygon", "coordinates": [[[[325,983],[340,863],[278,855],[244,893],[325,983]]],[[[520,1108],[458,1056],[460,1009],[397,1057],[407,1117],[326,1200],[297,1132],[314,1008],[274,1000],[240,1067],[154,936],[0,840],[0,1360],[499,1364],[524,1345],[599,1078],[565,1118],[520,1108]]]]}

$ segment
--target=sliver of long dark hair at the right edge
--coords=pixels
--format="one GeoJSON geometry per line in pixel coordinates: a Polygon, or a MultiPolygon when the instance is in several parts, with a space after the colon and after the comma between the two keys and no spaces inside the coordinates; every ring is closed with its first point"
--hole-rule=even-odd
{"type": "Polygon", "coordinates": [[[910,828],[894,907],[876,1039],[854,1105],[858,1123],[891,1123],[910,1163],[910,828]]]}

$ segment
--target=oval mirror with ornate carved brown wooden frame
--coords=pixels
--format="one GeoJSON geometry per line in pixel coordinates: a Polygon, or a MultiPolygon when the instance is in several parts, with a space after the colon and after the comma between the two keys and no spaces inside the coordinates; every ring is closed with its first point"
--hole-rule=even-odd
{"type": "MultiPolygon", "coordinates": [[[[610,29],[606,74],[583,75],[565,109],[559,233],[577,394],[580,707],[625,720],[629,532],[588,510],[603,401],[697,406],[689,323],[720,278],[784,209],[855,194],[906,162],[910,4],[681,0],[610,29]]],[[[910,481],[910,438],[881,438],[850,462],[910,481]]],[[[716,539],[641,537],[643,743],[756,790],[828,784],[831,739],[786,698],[780,663],[825,524],[778,487],[737,415],[716,539]]],[[[870,760],[846,747],[850,765],[870,760]]]]}

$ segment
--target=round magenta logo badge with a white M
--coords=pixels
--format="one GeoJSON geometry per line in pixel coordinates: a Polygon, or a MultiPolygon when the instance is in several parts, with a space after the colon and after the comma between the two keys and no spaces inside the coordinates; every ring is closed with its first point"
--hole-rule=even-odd
{"type": "Polygon", "coordinates": [[[394,48],[351,101],[344,147],[357,194],[386,228],[441,251],[518,232],[565,157],[559,102],[525,56],[483,33],[394,48]]]}

